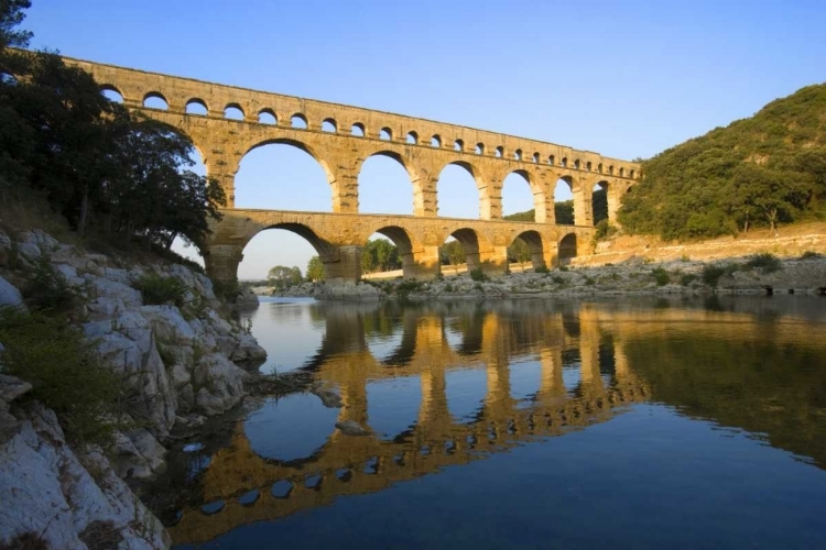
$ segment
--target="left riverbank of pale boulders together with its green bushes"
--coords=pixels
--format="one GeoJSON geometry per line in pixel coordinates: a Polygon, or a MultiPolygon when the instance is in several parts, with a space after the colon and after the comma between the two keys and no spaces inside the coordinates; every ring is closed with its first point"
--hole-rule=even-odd
{"type": "Polygon", "coordinates": [[[0,547],[167,548],[129,485],[241,404],[265,351],[203,274],[37,230],[0,232],[0,547]]]}

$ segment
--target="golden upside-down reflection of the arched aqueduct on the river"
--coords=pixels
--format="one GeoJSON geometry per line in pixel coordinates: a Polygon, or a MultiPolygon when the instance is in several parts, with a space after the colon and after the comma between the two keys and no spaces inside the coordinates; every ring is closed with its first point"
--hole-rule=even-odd
{"type": "MultiPolygon", "coordinates": [[[[537,438],[584,429],[660,395],[664,403],[684,406],[693,397],[675,392],[678,383],[664,383],[663,376],[667,378],[669,371],[691,382],[686,373],[691,366],[674,364],[657,371],[661,361],[680,363],[680,356],[652,352],[672,341],[698,348],[709,341],[747,346],[767,338],[781,346],[812,341],[797,322],[767,323],[749,312],[703,307],[520,301],[494,307],[454,302],[312,308],[326,332],[317,353],[302,369],[340,392],[344,407],[338,420],[355,420],[370,429],[368,387],[400,377],[421,384],[415,419],[389,438],[376,430],[366,437],[345,436],[330,426],[322,447],[290,461],[257,454],[239,422],[199,474],[197,502],[186,506],[170,528],[176,543],[211,540],[240,525],[329,505],[344,495],[381,491],[537,438]],[[398,345],[377,358],[370,346],[377,334],[398,345]],[[520,397],[514,395],[514,365],[528,363],[540,376],[535,387],[520,397]],[[461,418],[450,414],[448,403],[446,380],[456,371],[483,373],[486,380],[482,398],[461,418]],[[204,503],[210,506],[202,508],[204,503]]],[[[724,421],[729,425],[764,429],[771,438],[770,429],[754,422],[759,411],[748,404],[742,408],[751,424],[732,418],[725,406],[721,411],[710,407],[692,413],[711,419],[728,413],[724,421]]],[[[800,450],[800,442],[785,440],[781,447],[800,450]]],[[[811,447],[804,452],[818,455],[811,447]]]]}

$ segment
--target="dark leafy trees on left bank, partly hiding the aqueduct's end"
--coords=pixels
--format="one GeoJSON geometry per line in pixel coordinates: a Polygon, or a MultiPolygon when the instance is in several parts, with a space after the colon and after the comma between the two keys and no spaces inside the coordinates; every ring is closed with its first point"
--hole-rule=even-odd
{"type": "Polygon", "coordinates": [[[0,201],[42,197],[80,234],[203,241],[226,198],[189,169],[189,141],[109,101],[56,54],[12,50],[31,38],[17,30],[29,7],[0,1],[0,201]]]}

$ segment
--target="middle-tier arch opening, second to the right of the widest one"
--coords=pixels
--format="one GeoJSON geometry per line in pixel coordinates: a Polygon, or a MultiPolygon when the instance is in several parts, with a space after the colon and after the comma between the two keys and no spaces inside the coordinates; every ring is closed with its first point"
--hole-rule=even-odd
{"type": "Polygon", "coordinates": [[[476,166],[465,161],[447,164],[442,168],[436,180],[437,216],[466,219],[480,218],[482,204],[488,200],[483,196],[485,189],[487,189],[487,182],[476,166]],[[467,193],[460,190],[461,188],[467,189],[468,176],[472,182],[471,185],[476,188],[476,200],[469,200],[467,193]]]}

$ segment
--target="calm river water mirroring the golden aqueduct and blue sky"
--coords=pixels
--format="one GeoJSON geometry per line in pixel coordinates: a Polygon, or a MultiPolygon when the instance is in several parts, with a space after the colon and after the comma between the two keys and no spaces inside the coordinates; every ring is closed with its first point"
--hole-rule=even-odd
{"type": "Polygon", "coordinates": [[[345,407],[262,399],[188,447],[178,548],[826,548],[824,298],[251,319],[263,372],[312,371],[345,407]]]}

